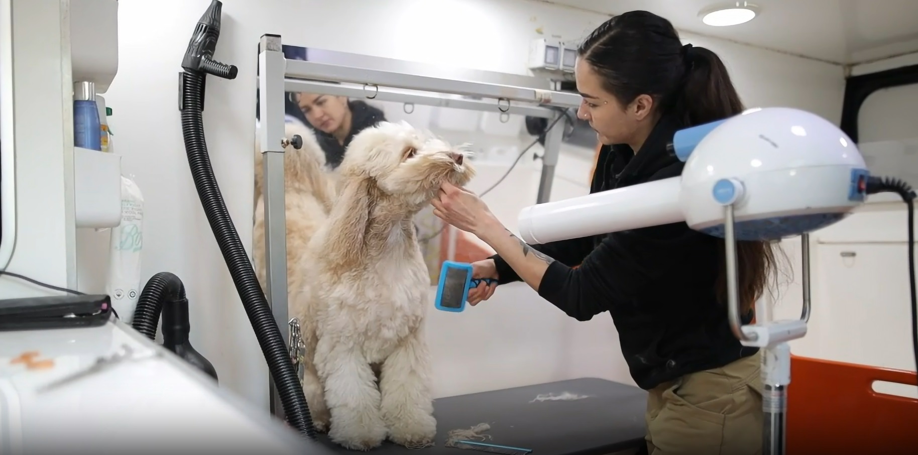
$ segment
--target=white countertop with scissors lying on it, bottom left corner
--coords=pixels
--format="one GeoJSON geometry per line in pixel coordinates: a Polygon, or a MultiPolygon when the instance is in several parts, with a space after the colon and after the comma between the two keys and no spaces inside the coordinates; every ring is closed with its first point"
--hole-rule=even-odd
{"type": "Polygon", "coordinates": [[[0,332],[0,454],[328,450],[309,442],[120,322],[0,332]],[[42,389],[124,345],[140,359],[42,389]]]}

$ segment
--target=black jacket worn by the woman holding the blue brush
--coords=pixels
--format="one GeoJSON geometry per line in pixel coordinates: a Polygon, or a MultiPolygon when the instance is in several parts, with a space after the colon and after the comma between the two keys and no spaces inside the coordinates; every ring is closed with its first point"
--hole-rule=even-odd
{"type": "MultiPolygon", "coordinates": [[[[638,153],[602,147],[590,193],[680,175],[684,163],[666,150],[680,128],[664,116],[638,153]]],[[[717,301],[717,242],[682,222],[532,245],[555,260],[539,295],[580,321],[608,311],[634,382],[649,390],[756,353],[733,337],[717,301]]],[[[492,258],[499,283],[520,281],[506,261],[492,258]]]]}

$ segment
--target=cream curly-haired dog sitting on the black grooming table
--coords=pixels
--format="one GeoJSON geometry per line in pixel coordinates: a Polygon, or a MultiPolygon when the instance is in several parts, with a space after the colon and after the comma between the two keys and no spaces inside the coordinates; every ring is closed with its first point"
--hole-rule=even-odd
{"type": "Polygon", "coordinates": [[[412,217],[444,180],[472,178],[465,155],[404,122],[364,129],[339,167],[329,220],[297,267],[308,277],[291,304],[307,345],[309,409],[345,448],[386,438],[423,447],[436,434],[422,332],[430,277],[412,217]]]}

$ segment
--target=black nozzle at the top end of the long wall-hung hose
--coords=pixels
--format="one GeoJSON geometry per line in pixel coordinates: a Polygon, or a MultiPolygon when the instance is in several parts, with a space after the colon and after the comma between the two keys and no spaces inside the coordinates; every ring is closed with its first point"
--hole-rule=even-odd
{"type": "Polygon", "coordinates": [[[182,59],[182,68],[188,72],[207,72],[223,79],[235,79],[239,69],[235,65],[228,65],[214,60],[214,50],[217,50],[217,39],[220,37],[220,17],[223,3],[219,0],[210,2],[207,11],[197,19],[195,33],[188,41],[185,58],[182,59]]]}

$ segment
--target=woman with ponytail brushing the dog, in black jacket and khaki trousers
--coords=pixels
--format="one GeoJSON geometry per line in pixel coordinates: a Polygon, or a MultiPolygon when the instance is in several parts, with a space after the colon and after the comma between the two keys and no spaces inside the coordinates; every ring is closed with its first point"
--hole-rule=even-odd
{"type": "MultiPolygon", "coordinates": [[[[674,133],[743,110],[717,55],[683,46],[669,21],[645,11],[593,31],[578,50],[576,78],[577,115],[604,144],[591,193],[679,175],[683,163],[666,152],[674,133]]],[[[522,280],[577,320],[610,312],[632,377],[649,391],[651,454],[760,452],[759,355],[727,322],[722,239],[676,223],[530,246],[464,189],[446,184],[432,204],[498,252],[474,264],[476,278],[522,280]]],[[[774,253],[766,242],[738,249],[748,323],[774,253]]],[[[469,303],[494,286],[471,291],[469,303]]]]}

